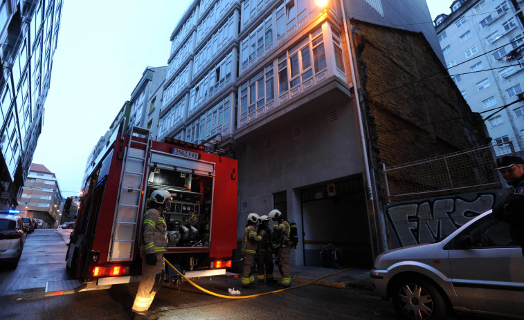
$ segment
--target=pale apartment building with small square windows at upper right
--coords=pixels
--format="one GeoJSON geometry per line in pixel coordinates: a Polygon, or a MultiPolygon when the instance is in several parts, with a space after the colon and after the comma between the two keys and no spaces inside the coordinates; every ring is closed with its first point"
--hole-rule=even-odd
{"type": "Polygon", "coordinates": [[[523,153],[523,1],[457,0],[435,19],[446,67],[503,155],[523,153]],[[505,107],[507,106],[507,107],[505,107]]]}

